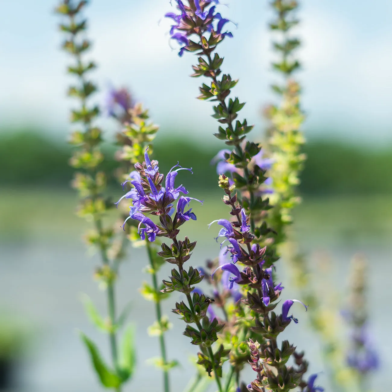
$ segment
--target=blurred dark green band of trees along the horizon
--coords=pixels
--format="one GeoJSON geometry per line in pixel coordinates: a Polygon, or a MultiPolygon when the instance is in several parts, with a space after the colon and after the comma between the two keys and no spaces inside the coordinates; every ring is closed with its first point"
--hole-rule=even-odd
{"type": "MultiPolygon", "coordinates": [[[[215,144],[199,145],[174,136],[158,139],[154,158],[159,159],[162,172],[167,172],[178,160],[183,167],[194,168],[192,183],[188,186],[190,191],[217,187],[217,176],[210,165],[218,151],[215,144]]],[[[3,134],[0,138],[0,185],[69,187],[73,172],[68,165],[71,148],[65,142],[38,132],[3,134]]],[[[114,156],[114,147],[107,146],[103,150],[109,158],[114,156]]],[[[392,192],[392,181],[388,180],[392,171],[392,145],[368,148],[334,140],[310,140],[304,152],[308,159],[301,177],[303,194],[392,192]]],[[[105,165],[114,172],[114,158],[107,160],[105,165]]],[[[116,183],[114,176],[112,183],[116,183]]]]}

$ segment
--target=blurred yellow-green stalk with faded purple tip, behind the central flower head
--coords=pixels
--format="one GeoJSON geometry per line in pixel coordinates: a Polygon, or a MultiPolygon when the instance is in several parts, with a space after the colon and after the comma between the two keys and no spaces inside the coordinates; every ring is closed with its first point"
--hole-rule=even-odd
{"type": "MultiPolygon", "coordinates": [[[[124,187],[129,185],[127,180],[128,174],[134,170],[134,164],[142,162],[144,159],[144,151],[147,146],[150,146],[154,140],[158,127],[149,122],[149,115],[147,110],[143,110],[141,104],[134,104],[132,102],[131,94],[125,88],[111,89],[106,97],[107,114],[118,121],[122,130],[117,134],[117,143],[121,149],[117,152],[116,157],[120,162],[123,162],[123,167],[118,169],[118,178],[124,187]]],[[[129,187],[131,189],[131,187],[129,187]]],[[[116,203],[117,205],[119,203],[116,203]]],[[[124,213],[122,222],[127,218],[128,214],[124,213]],[[125,215],[125,216],[124,216],[125,215]]],[[[136,247],[140,245],[140,237],[138,236],[138,221],[133,221],[134,225],[127,225],[127,230],[123,230],[123,238],[130,239],[132,244],[136,247]],[[138,240],[139,241],[138,241],[138,240]]],[[[169,329],[170,323],[166,316],[162,314],[161,301],[167,296],[160,292],[162,287],[158,286],[158,272],[162,266],[161,259],[156,256],[158,247],[156,244],[148,240],[143,240],[142,244],[147,249],[147,256],[149,258],[149,268],[147,271],[151,274],[152,286],[143,283],[141,289],[142,295],[145,299],[151,300],[155,303],[156,322],[149,327],[149,334],[158,336],[160,346],[160,358],[154,361],[155,364],[161,368],[163,372],[163,390],[170,391],[169,370],[176,364],[175,361],[169,362],[167,359],[165,332],[169,329]]]]}

